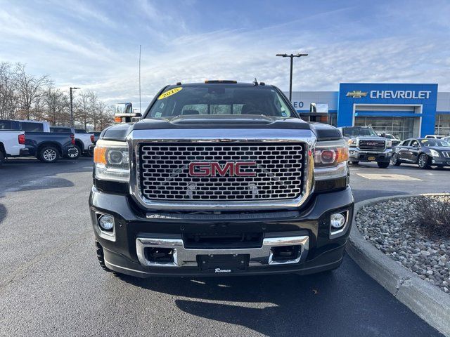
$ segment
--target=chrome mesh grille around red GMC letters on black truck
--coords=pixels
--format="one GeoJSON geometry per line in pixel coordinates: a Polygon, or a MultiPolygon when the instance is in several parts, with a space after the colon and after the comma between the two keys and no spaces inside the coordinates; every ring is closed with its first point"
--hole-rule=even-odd
{"type": "Polygon", "coordinates": [[[138,183],[148,200],[236,201],[295,199],[302,194],[303,143],[143,144],[138,183]],[[255,162],[243,172],[255,176],[190,176],[192,162],[255,162]]]}

